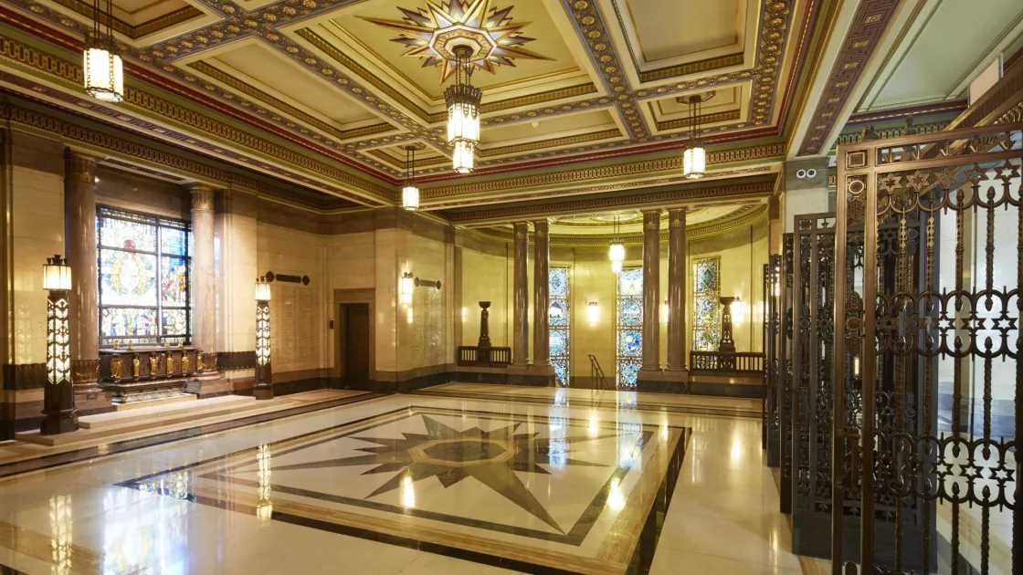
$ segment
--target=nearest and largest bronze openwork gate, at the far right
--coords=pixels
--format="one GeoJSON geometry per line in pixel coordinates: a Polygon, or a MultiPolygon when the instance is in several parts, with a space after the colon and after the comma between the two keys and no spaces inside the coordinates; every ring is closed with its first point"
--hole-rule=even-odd
{"type": "Polygon", "coordinates": [[[878,265],[835,253],[835,574],[1023,572],[1021,130],[838,149],[835,236],[878,265]]]}

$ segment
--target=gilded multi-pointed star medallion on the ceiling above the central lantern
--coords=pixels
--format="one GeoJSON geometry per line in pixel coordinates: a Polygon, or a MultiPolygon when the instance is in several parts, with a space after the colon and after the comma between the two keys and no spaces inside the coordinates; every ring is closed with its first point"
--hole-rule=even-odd
{"type": "Polygon", "coordinates": [[[424,58],[424,68],[441,67],[444,81],[456,68],[455,46],[469,47],[472,68],[491,74],[497,65],[514,67],[516,58],[550,59],[522,47],[535,39],[522,35],[529,23],[511,24],[514,7],[498,10],[493,0],[427,0],[426,9],[399,7],[400,20],[363,19],[396,31],[393,41],[409,47],[404,55],[424,58]]]}

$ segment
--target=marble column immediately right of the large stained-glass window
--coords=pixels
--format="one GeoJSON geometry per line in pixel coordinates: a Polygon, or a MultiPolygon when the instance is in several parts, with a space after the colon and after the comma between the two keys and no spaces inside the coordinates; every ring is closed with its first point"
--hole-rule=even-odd
{"type": "Polygon", "coordinates": [[[191,187],[192,347],[203,350],[206,369],[216,365],[217,300],[213,261],[213,194],[206,185],[191,187]]]}

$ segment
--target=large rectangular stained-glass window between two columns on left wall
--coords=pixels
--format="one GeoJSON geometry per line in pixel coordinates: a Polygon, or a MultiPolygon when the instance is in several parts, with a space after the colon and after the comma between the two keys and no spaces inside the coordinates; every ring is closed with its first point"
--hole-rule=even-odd
{"type": "Polygon", "coordinates": [[[99,208],[96,231],[100,345],[187,342],[188,224],[99,208]]]}

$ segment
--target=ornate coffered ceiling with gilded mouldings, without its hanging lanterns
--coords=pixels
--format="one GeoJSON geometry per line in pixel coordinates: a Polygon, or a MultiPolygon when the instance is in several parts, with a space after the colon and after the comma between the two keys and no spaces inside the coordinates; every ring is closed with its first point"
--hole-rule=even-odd
{"type": "Polygon", "coordinates": [[[79,87],[91,2],[7,0],[0,90],[335,209],[396,203],[414,143],[422,208],[440,217],[694,187],[680,176],[691,119],[676,98],[713,92],[700,119],[710,174],[695,187],[725,197],[738,179],[779,171],[801,62],[829,32],[813,23],[833,3],[115,0],[128,86],[112,105],[79,87]],[[450,170],[445,137],[452,38],[477,46],[484,90],[469,177],[450,170]]]}

